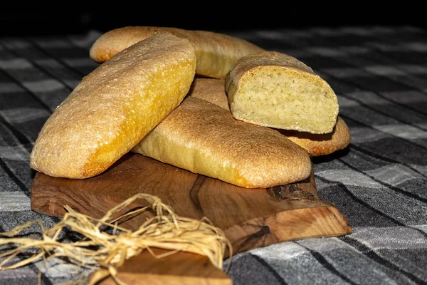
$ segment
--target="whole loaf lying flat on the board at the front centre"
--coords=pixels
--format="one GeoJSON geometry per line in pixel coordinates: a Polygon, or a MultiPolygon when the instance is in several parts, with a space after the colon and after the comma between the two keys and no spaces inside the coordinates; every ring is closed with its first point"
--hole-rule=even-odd
{"type": "Polygon", "coordinates": [[[276,130],[235,120],[188,97],[133,152],[240,187],[285,185],[310,175],[307,152],[276,130]]]}

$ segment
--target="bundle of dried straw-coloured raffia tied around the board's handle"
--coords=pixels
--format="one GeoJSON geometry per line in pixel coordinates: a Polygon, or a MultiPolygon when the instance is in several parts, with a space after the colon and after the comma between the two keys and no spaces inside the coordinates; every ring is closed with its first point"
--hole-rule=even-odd
{"type": "MultiPolygon", "coordinates": [[[[97,281],[107,276],[112,276],[117,284],[124,284],[117,278],[117,267],[145,249],[154,254],[150,247],[169,249],[169,252],[164,255],[180,251],[201,254],[208,257],[218,269],[223,269],[223,256],[227,247],[231,258],[231,243],[221,229],[214,227],[206,218],[196,220],[179,217],[169,206],[162,203],[159,197],[153,195],[141,193],[130,197],[110,209],[101,219],[75,212],[68,206],[65,206],[65,209],[67,213],[63,219],[51,229],[45,229],[41,221],[37,219],[14,227],[9,232],[0,233],[0,235],[8,237],[0,238],[0,246],[15,245],[14,249],[0,254],[0,270],[16,269],[40,259],[45,261],[46,266],[48,259],[61,257],[79,267],[88,267],[92,269],[91,271],[99,269],[93,274],[90,284],[96,284],[97,281]],[[123,214],[117,219],[111,219],[115,213],[137,199],[145,199],[150,206],[123,214]],[[120,219],[129,216],[135,217],[146,211],[152,211],[155,214],[153,217],[147,218],[146,222],[134,232],[117,225],[117,221],[120,219]],[[43,239],[14,238],[16,234],[21,233],[23,229],[32,224],[38,224],[41,227],[43,239]],[[113,229],[111,234],[101,229],[105,226],[113,229]],[[57,239],[64,227],[83,234],[84,238],[77,242],[58,242],[57,239]],[[26,259],[13,260],[28,249],[37,250],[26,259]]],[[[161,258],[162,256],[156,257],[161,258]]],[[[75,283],[76,281],[73,281],[73,284],[75,283]]]]}

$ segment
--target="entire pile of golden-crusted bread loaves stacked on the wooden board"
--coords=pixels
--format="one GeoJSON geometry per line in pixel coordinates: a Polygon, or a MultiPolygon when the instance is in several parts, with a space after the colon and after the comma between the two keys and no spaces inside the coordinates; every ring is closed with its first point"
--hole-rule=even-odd
{"type": "Polygon", "coordinates": [[[132,150],[233,185],[273,187],[304,180],[310,156],[349,144],[326,81],[240,38],[117,28],[93,43],[90,58],[102,64],[38,135],[38,172],[93,177],[132,150]]]}

